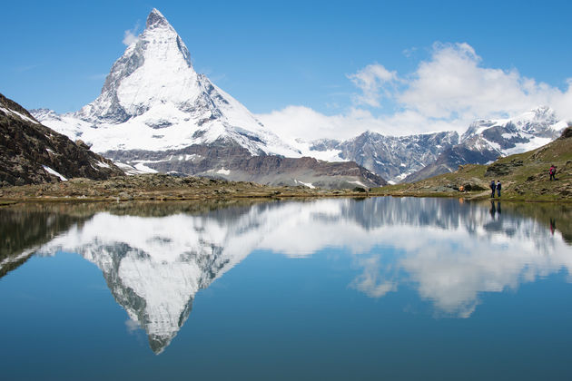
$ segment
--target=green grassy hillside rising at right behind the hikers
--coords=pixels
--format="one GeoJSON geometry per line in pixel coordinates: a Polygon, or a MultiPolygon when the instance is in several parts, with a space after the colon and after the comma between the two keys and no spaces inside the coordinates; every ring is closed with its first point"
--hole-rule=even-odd
{"type": "Polygon", "coordinates": [[[460,166],[459,171],[411,184],[375,188],[372,192],[486,199],[492,180],[502,183],[502,200],[572,201],[572,127],[556,141],[534,151],[500,158],[490,165],[460,166]],[[557,181],[549,181],[552,164],[557,166],[557,181]],[[468,191],[459,191],[460,186],[468,191]]]}

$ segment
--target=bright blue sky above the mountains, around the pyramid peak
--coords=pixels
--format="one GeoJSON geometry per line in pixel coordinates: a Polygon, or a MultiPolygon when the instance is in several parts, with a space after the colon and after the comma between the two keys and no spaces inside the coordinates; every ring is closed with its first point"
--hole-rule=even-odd
{"type": "Polygon", "coordinates": [[[142,32],[153,7],[182,36],[195,70],[251,112],[272,115],[262,117],[266,123],[291,120],[288,110],[303,120],[337,121],[340,129],[370,123],[368,129],[390,132],[388,125],[405,120],[388,118],[417,112],[404,125],[425,118],[427,129],[441,129],[519,112],[517,103],[526,110],[546,99],[558,111],[572,101],[572,5],[566,1],[10,2],[0,24],[0,93],[26,108],[56,112],[92,102],[123,54],[125,32],[142,32]],[[472,65],[482,78],[500,73],[499,83],[512,75],[518,87],[509,92],[512,102],[473,106],[488,95],[461,94],[466,99],[454,106],[445,103],[459,91],[447,89],[446,99],[437,91],[437,104],[425,104],[433,92],[423,86],[435,83],[423,80],[423,67],[466,72],[448,66],[449,59],[472,65]]]}

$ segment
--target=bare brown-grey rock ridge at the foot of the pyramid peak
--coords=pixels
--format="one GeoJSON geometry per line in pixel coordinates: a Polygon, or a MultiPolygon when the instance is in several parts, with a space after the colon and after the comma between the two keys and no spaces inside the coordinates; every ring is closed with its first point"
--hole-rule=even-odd
{"type": "Polygon", "coordinates": [[[175,151],[107,151],[105,155],[144,171],[192,173],[230,181],[310,188],[370,188],[387,184],[353,161],[329,162],[310,157],[252,156],[238,144],[192,145],[175,151]],[[139,158],[145,157],[145,161],[139,158]]]}

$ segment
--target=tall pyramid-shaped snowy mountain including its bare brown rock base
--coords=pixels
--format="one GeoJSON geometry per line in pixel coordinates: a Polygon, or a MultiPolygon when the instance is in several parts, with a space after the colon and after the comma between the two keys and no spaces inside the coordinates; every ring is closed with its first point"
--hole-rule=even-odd
{"type": "Polygon", "coordinates": [[[355,163],[298,161],[301,151],[282,142],[241,103],[194,71],[189,50],[156,9],[137,41],[113,64],[93,103],[64,115],[46,109],[32,112],[54,130],[128,164],[123,165],[128,172],[179,172],[312,187],[385,184],[355,163]],[[257,168],[273,173],[259,173],[257,168]]]}

